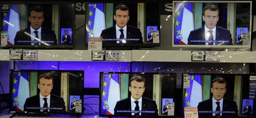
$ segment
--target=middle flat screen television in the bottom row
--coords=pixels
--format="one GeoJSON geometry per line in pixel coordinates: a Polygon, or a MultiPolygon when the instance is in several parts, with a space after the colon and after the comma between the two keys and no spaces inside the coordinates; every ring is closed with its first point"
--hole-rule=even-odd
{"type": "Polygon", "coordinates": [[[175,115],[174,73],[100,72],[100,92],[99,116],[175,115]]]}

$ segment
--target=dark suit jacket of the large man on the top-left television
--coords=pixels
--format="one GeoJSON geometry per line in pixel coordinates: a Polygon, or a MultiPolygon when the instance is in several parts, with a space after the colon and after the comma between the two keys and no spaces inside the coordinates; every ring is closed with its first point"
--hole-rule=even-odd
{"type": "MultiPolygon", "coordinates": [[[[44,27],[41,27],[41,41],[46,41],[49,45],[57,45],[57,39],[55,32],[51,29],[47,29],[44,27]],[[51,41],[51,42],[47,42],[51,41]]],[[[26,33],[30,33],[30,27],[20,30],[16,33],[15,39],[14,39],[14,45],[31,45],[31,36],[27,35],[26,33]],[[19,42],[19,41],[27,41],[27,42],[19,42]]],[[[44,43],[41,43],[41,45],[45,45],[44,43]]]]}

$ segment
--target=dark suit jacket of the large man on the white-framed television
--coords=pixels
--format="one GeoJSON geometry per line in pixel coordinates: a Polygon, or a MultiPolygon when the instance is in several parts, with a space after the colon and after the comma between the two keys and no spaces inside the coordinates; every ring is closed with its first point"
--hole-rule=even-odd
{"type": "MultiPolygon", "coordinates": [[[[195,29],[190,32],[187,39],[188,45],[205,45],[205,42],[191,42],[194,41],[205,41],[205,27],[195,29]]],[[[215,45],[233,45],[230,31],[219,26],[216,26],[216,41],[227,41],[227,42],[216,42],[215,45]]]]}

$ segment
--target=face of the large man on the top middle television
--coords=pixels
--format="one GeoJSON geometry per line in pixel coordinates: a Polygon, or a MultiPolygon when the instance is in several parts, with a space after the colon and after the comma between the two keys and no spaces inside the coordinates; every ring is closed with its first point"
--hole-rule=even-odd
{"type": "Polygon", "coordinates": [[[129,15],[128,15],[128,10],[126,11],[121,11],[120,9],[118,9],[116,11],[116,15],[114,15],[114,20],[117,22],[117,26],[121,29],[124,28],[124,26],[126,26],[128,20],[129,20],[129,15]]]}

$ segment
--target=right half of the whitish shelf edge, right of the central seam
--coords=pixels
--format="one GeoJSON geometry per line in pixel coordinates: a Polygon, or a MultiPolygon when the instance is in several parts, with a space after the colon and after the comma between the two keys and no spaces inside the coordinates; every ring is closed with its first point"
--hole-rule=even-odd
{"type": "Polygon", "coordinates": [[[191,51],[132,50],[132,61],[256,63],[256,52],[221,51],[219,61],[191,61],[191,51]]]}

